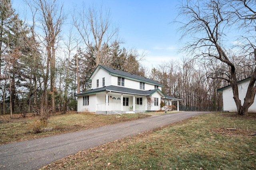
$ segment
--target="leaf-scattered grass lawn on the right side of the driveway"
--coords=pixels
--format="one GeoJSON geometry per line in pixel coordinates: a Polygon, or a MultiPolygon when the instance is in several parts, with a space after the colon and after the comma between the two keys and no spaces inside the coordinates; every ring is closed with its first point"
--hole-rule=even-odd
{"type": "Polygon", "coordinates": [[[217,133],[222,128],[256,131],[256,118],[199,115],[78,152],[43,169],[256,169],[256,136],[217,133]]]}

